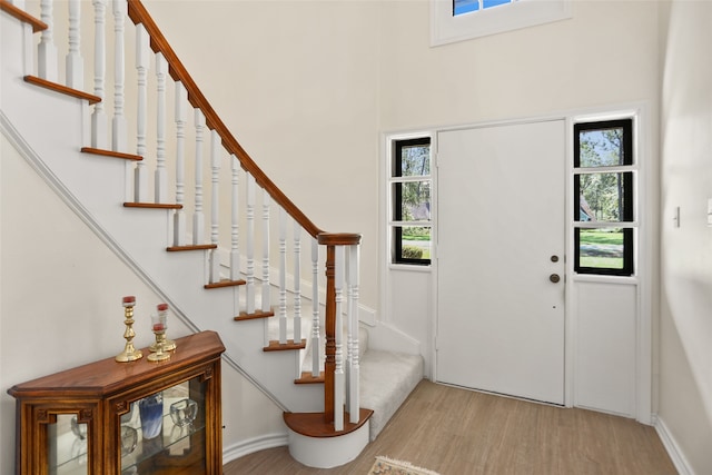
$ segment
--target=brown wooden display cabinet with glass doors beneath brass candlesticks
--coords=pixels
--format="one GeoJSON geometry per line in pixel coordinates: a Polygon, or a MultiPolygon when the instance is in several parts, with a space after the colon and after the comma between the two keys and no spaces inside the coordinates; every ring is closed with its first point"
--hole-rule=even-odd
{"type": "Polygon", "coordinates": [[[214,331],[176,344],[165,362],[149,362],[145,348],[136,362],[111,357],[10,388],[17,399],[16,473],[221,474],[225,347],[214,331]],[[154,437],[150,409],[160,425],[154,437]]]}

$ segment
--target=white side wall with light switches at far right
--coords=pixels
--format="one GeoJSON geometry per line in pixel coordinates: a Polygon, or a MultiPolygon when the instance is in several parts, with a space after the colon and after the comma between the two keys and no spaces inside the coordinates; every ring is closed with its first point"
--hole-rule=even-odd
{"type": "Polygon", "coordinates": [[[660,418],[712,473],[712,3],[675,0],[663,49],[660,418]],[[673,214],[680,207],[680,227],[673,214]]]}

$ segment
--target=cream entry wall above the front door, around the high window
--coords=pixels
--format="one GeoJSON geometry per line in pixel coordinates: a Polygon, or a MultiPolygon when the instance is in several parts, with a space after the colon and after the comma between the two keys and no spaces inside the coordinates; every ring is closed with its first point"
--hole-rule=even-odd
{"type": "MultiPolygon", "coordinates": [[[[646,105],[646,120],[656,123],[657,2],[573,1],[572,11],[568,20],[431,48],[427,1],[384,2],[383,130],[617,110],[634,102],[646,105]]],[[[655,144],[652,129],[645,139],[655,144]]],[[[656,149],[646,151],[644,165],[656,169],[656,149]]],[[[384,318],[426,343],[434,278],[398,270],[385,273],[384,280],[384,318]]],[[[422,348],[429,358],[429,346],[422,348]]]]}

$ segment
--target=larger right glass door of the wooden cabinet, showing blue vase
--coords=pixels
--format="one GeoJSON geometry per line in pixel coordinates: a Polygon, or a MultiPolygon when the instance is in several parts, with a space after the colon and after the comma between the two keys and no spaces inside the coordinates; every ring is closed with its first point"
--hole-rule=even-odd
{"type": "Polygon", "coordinates": [[[206,383],[199,379],[131,403],[121,416],[121,475],[206,472],[206,383]]]}

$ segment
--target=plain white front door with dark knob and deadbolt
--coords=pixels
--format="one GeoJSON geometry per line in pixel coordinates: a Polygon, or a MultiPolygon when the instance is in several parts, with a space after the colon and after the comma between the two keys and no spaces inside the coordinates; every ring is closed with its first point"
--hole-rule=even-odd
{"type": "Polygon", "coordinates": [[[438,382],[564,404],[565,147],[563,120],[437,135],[438,382]]]}

